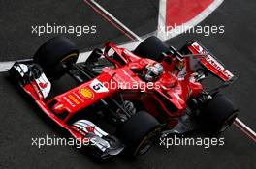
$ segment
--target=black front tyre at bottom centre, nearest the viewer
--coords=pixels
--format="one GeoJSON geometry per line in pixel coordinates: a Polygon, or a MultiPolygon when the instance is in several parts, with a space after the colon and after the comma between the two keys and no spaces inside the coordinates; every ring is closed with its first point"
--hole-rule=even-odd
{"type": "Polygon", "coordinates": [[[126,155],[137,157],[151,148],[160,130],[158,121],[141,111],[119,127],[116,135],[126,145],[126,155]]]}

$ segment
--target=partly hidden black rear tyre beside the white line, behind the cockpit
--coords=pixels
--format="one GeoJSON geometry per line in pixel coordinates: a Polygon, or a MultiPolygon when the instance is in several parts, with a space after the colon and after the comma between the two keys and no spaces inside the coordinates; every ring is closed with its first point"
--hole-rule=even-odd
{"type": "Polygon", "coordinates": [[[134,54],[160,62],[163,60],[162,53],[167,51],[169,46],[165,42],[156,37],[149,37],[136,47],[134,54]]]}

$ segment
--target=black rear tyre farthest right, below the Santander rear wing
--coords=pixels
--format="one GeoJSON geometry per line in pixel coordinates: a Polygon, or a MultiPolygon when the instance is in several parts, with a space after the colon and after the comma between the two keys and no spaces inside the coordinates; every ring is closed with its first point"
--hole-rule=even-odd
{"type": "Polygon", "coordinates": [[[216,136],[230,127],[237,116],[238,109],[233,102],[218,93],[203,108],[199,121],[205,133],[216,136]]]}

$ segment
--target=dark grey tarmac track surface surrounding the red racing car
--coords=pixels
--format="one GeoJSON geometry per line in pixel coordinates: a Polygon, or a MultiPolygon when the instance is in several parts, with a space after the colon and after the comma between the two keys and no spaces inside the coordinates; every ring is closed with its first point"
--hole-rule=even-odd
{"type": "MultiPolygon", "coordinates": [[[[121,20],[136,34],[142,36],[157,26],[158,2],[112,0],[101,5],[121,20]],[[144,8],[142,8],[144,7],[144,8]],[[131,19],[132,18],[132,19],[131,19]]],[[[225,25],[225,34],[205,37],[200,34],[182,34],[168,41],[176,47],[197,39],[208,47],[228,68],[239,76],[236,84],[225,93],[240,107],[240,119],[256,128],[256,33],[253,0],[225,1],[201,25],[225,25]]],[[[83,2],[65,1],[0,1],[0,60],[27,58],[36,48],[54,35],[38,37],[31,34],[31,25],[58,23],[97,25],[96,35],[69,36],[82,49],[100,46],[103,42],[126,42],[128,39],[83,2]],[[48,5],[50,4],[50,6],[48,5]],[[2,26],[3,25],[3,26],[2,26]],[[108,33],[107,33],[108,32],[108,33]]],[[[256,168],[255,143],[236,127],[225,132],[223,147],[174,146],[165,149],[155,146],[136,161],[117,156],[98,164],[74,147],[51,146],[38,149],[31,146],[31,138],[62,136],[57,127],[48,122],[40,110],[19,94],[8,79],[0,74],[0,168],[256,168]]],[[[60,86],[64,88],[64,86],[60,86]]],[[[195,133],[193,136],[197,136],[195,133]]]]}

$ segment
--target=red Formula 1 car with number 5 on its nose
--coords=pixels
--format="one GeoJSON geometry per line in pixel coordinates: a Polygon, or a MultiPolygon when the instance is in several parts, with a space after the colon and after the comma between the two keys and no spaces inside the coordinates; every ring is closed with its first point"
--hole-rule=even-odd
{"type": "Polygon", "coordinates": [[[166,134],[197,128],[219,134],[237,117],[238,109],[218,93],[235,75],[199,42],[177,51],[150,37],[134,51],[108,42],[86,62],[76,63],[78,56],[73,42],[57,37],[9,72],[57,125],[76,139],[88,138],[89,152],[98,158],[144,155],[166,134]],[[208,73],[223,84],[206,90],[208,73]],[[76,87],[52,96],[52,84],[64,74],[76,87]]]}

